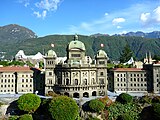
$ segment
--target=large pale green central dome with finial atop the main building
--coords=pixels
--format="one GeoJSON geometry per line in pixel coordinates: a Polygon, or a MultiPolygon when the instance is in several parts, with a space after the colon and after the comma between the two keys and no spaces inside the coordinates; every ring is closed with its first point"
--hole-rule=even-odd
{"type": "Polygon", "coordinates": [[[81,41],[78,41],[78,36],[77,35],[75,35],[74,40],[71,41],[68,45],[68,50],[71,50],[71,49],[80,49],[80,50],[83,50],[83,51],[86,50],[84,43],[82,43],[81,41]]]}

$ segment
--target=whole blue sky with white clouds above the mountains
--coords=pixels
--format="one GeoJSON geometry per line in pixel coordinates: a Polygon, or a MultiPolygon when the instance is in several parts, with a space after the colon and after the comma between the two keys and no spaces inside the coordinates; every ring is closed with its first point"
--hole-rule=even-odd
{"type": "Polygon", "coordinates": [[[0,26],[18,24],[38,36],[160,30],[160,0],[1,0],[0,26]]]}

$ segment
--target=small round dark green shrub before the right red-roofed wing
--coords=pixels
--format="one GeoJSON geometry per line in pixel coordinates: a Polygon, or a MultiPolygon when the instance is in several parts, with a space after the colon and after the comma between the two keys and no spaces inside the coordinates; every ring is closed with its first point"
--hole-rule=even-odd
{"type": "Polygon", "coordinates": [[[117,98],[117,102],[122,104],[131,103],[133,101],[133,97],[127,93],[121,93],[117,98]]]}

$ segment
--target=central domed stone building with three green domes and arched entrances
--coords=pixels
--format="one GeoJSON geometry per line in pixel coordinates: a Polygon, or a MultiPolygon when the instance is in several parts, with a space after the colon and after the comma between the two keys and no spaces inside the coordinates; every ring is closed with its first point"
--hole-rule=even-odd
{"type": "Polygon", "coordinates": [[[99,50],[94,60],[86,56],[84,43],[74,40],[67,46],[67,59],[57,62],[49,50],[45,56],[45,93],[50,91],[70,97],[107,95],[107,54],[99,50]]]}

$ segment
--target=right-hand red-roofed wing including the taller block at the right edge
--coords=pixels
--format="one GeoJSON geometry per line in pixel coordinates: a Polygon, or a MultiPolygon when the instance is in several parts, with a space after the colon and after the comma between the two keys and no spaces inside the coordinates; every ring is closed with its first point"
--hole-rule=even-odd
{"type": "Polygon", "coordinates": [[[108,77],[108,90],[113,92],[160,93],[160,63],[151,55],[142,68],[114,68],[108,77]]]}

